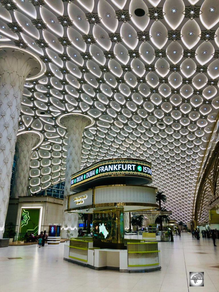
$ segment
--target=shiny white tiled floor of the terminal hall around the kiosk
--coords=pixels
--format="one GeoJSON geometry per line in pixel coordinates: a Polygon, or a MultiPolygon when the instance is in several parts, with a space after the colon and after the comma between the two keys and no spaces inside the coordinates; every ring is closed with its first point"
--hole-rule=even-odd
{"type": "Polygon", "coordinates": [[[219,240],[181,233],[159,243],[161,271],[95,271],[63,260],[64,244],[0,248],[0,292],[218,292],[219,240]],[[20,257],[21,259],[8,258],[20,257]],[[217,266],[217,267],[216,267],[217,266]],[[189,272],[204,272],[204,287],[189,286],[189,272]]]}

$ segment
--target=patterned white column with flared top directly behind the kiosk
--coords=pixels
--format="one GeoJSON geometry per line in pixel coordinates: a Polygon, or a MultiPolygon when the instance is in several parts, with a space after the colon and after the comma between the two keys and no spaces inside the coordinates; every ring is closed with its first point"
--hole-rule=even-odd
{"type": "Polygon", "coordinates": [[[91,124],[91,118],[81,114],[70,114],[62,117],[60,122],[68,131],[62,228],[74,230],[78,226],[78,214],[66,213],[64,210],[68,208],[67,196],[70,194],[71,175],[80,171],[82,135],[84,128],[91,124]]]}

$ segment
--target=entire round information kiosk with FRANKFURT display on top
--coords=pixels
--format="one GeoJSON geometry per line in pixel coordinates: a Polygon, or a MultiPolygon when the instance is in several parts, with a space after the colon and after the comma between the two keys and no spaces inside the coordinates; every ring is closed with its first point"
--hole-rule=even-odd
{"type": "Polygon", "coordinates": [[[96,270],[160,270],[157,242],[124,239],[125,212],[158,207],[150,183],[151,164],[136,159],[104,160],[72,175],[65,211],[92,213],[93,237],[71,238],[64,259],[96,270]]]}

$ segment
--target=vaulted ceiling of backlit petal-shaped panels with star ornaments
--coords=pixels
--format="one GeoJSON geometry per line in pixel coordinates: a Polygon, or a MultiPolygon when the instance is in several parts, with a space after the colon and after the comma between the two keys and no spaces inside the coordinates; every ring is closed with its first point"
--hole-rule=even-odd
{"type": "Polygon", "coordinates": [[[39,55],[19,132],[39,131],[29,193],[65,179],[61,115],[79,112],[81,168],[128,157],[152,163],[176,220],[190,221],[199,170],[218,118],[219,1],[1,0],[0,46],[39,55]]]}

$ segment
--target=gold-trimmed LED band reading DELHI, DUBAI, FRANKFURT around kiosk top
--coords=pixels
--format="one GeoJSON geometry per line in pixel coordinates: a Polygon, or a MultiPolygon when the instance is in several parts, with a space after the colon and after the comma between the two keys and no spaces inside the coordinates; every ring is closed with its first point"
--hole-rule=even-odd
{"type": "Polygon", "coordinates": [[[109,176],[138,176],[151,180],[151,164],[135,159],[104,160],[72,175],[71,188],[109,176]]]}

